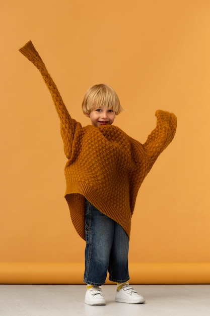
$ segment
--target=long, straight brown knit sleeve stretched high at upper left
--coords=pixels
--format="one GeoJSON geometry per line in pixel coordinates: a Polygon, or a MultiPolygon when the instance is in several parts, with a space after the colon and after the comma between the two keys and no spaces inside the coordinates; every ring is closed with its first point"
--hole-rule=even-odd
{"type": "Polygon", "coordinates": [[[19,49],[20,52],[32,62],[35,67],[40,71],[54,102],[55,109],[57,111],[58,117],[60,119],[60,133],[63,140],[64,152],[66,157],[69,159],[72,150],[72,142],[74,139],[75,129],[78,123],[69,115],[61,95],[52,80],[50,74],[48,73],[41,57],[39,56],[37,50],[35,49],[31,41],[27,42],[22,48],[19,49]]]}

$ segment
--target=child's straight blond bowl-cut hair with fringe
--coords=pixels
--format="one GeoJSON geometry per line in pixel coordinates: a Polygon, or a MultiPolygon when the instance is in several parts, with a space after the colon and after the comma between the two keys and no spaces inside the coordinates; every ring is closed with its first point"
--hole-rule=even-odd
{"type": "Polygon", "coordinates": [[[86,92],[82,110],[84,114],[90,114],[92,110],[97,108],[108,108],[118,115],[123,111],[119,98],[114,89],[107,84],[95,84],[86,92]]]}

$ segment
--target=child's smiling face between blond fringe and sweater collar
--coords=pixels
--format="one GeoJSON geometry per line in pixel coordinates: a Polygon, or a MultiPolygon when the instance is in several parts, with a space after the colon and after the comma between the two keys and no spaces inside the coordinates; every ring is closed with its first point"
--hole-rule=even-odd
{"type": "Polygon", "coordinates": [[[115,112],[105,107],[96,108],[85,115],[90,118],[93,126],[111,125],[115,119],[115,112]]]}

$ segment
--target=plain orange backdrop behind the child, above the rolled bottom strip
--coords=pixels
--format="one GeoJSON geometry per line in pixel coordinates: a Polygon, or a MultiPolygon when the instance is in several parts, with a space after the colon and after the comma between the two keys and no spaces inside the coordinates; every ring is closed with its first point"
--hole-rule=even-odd
{"type": "Polygon", "coordinates": [[[145,179],[129,261],[210,262],[210,2],[3,0],[0,262],[83,262],[63,197],[59,120],[40,73],[18,51],[32,40],[69,113],[107,83],[126,112],[115,124],[144,142],[157,109],[178,129],[145,179]]]}

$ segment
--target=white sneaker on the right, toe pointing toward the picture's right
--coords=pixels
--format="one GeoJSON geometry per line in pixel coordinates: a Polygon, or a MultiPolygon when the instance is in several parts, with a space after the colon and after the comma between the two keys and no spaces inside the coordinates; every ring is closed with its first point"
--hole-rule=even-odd
{"type": "Polygon", "coordinates": [[[125,284],[119,291],[116,291],[115,301],[119,303],[142,304],[145,303],[143,296],[133,290],[129,284],[125,284]]]}

